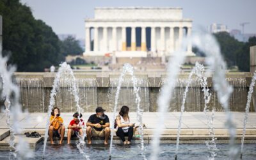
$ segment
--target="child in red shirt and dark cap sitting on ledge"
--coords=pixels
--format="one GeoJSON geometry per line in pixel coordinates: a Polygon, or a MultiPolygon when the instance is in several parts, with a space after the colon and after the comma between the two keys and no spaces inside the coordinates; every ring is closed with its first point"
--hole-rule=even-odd
{"type": "Polygon", "coordinates": [[[70,144],[70,139],[71,136],[78,136],[80,135],[81,137],[83,137],[83,128],[84,128],[84,121],[83,119],[81,119],[82,114],[80,113],[74,113],[73,115],[73,120],[70,121],[69,125],[68,125],[68,144],[70,144]],[[79,121],[79,118],[80,121],[79,121]]]}

